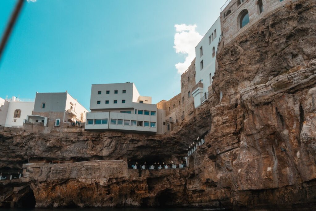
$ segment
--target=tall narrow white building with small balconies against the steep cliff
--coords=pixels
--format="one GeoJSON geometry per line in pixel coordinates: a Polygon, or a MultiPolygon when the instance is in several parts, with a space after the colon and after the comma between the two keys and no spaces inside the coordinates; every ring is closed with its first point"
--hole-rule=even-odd
{"type": "Polygon", "coordinates": [[[212,90],[209,91],[209,86],[212,84],[212,77],[215,73],[216,51],[220,35],[221,21],[218,18],[195,47],[196,85],[192,88],[195,108],[207,101],[208,96],[212,94],[212,90]]]}

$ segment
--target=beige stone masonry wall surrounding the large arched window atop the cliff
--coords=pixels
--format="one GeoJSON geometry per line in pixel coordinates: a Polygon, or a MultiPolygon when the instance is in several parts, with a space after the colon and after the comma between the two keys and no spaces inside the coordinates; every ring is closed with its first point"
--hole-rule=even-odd
{"type": "Polygon", "coordinates": [[[282,2],[280,2],[279,0],[262,0],[263,12],[260,14],[258,9],[258,1],[245,0],[234,10],[232,10],[230,7],[234,7],[233,4],[236,2],[236,0],[231,1],[228,6],[221,12],[221,29],[225,44],[228,44],[235,37],[252,27],[255,22],[257,22],[266,14],[272,13],[276,9],[283,7],[285,4],[290,4],[291,2],[295,1],[296,0],[283,0],[282,2]],[[229,9],[232,10],[232,12],[228,16],[224,17],[224,14],[229,9]],[[238,19],[240,13],[245,9],[248,10],[249,13],[249,23],[240,29],[238,19]]]}

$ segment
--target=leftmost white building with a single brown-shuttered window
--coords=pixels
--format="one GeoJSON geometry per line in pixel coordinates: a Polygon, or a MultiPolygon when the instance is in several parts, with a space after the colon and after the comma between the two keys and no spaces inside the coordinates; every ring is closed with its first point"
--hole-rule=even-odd
{"type": "Polygon", "coordinates": [[[27,115],[31,115],[34,99],[0,98],[0,125],[4,127],[22,127],[27,115]]]}

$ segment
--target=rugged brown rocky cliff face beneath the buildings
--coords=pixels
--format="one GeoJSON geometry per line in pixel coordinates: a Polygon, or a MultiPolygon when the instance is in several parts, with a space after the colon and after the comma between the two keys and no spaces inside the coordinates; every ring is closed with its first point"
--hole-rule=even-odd
{"type": "MultiPolygon", "coordinates": [[[[169,162],[186,156],[185,149],[199,135],[205,136],[205,144],[192,154],[185,170],[127,170],[123,177],[105,179],[70,177],[64,174],[68,169],[59,172],[63,179],[40,180],[34,174],[23,183],[33,189],[40,207],[312,208],[316,205],[315,44],[316,2],[296,1],[222,46],[212,85],[218,97],[223,92],[222,102],[204,104],[179,130],[167,136],[1,132],[0,165],[21,168],[35,157],[121,156],[169,162]]],[[[82,168],[71,165],[67,168],[82,168]]],[[[8,184],[2,182],[2,187],[8,184]]]]}

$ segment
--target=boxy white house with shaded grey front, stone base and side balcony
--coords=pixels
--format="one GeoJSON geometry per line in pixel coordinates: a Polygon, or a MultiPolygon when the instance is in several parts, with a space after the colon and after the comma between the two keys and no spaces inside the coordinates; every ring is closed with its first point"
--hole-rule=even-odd
{"type": "Polygon", "coordinates": [[[61,123],[86,121],[89,111],[77,99],[66,92],[36,93],[33,113],[26,123],[40,123],[48,127],[59,127],[61,123]]]}

